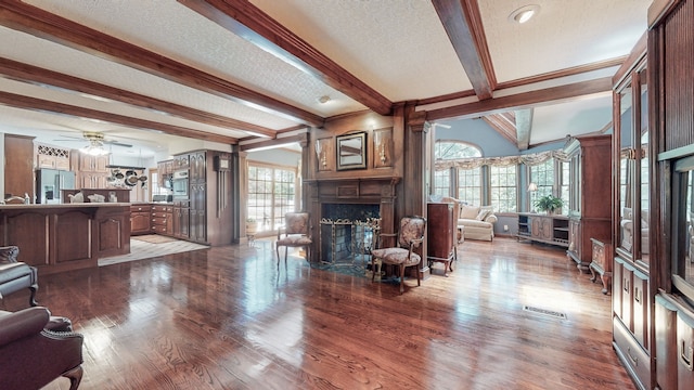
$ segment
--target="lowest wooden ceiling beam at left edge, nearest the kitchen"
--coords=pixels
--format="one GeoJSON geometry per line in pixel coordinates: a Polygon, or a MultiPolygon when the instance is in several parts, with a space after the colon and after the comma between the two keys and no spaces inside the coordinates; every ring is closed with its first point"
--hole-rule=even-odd
{"type": "Polygon", "coordinates": [[[16,93],[10,93],[0,91],[0,104],[30,109],[39,113],[52,113],[57,115],[66,115],[70,117],[76,117],[80,119],[92,119],[100,120],[115,125],[127,126],[130,128],[139,129],[139,130],[153,130],[160,131],[163,133],[169,135],[178,135],[185,136],[190,139],[219,142],[223,144],[233,145],[239,142],[237,139],[233,136],[227,136],[221,134],[215,134],[210,132],[205,132],[201,130],[187,129],[180,126],[166,125],[146,119],[133,118],[125,115],[106,113],[98,109],[85,108],[79,106],[74,106],[70,104],[59,103],[53,101],[48,101],[43,99],[24,96],[16,93]]]}

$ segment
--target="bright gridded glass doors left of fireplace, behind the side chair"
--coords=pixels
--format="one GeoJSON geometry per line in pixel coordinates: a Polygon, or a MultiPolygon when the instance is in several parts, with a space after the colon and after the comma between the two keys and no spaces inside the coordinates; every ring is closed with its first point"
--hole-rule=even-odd
{"type": "Polygon", "coordinates": [[[277,230],[284,214],[295,210],[296,169],[248,165],[247,214],[258,232],[277,230]]]}

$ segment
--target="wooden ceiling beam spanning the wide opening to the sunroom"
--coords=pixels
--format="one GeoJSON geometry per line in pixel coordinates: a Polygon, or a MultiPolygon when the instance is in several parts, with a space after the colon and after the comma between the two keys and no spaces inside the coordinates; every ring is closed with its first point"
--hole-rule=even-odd
{"type": "Polygon", "coordinates": [[[426,112],[427,120],[453,119],[472,115],[488,115],[510,109],[530,108],[534,105],[547,105],[570,101],[586,95],[612,91],[612,78],[575,82],[551,87],[525,93],[494,98],[487,101],[460,104],[426,112]]]}

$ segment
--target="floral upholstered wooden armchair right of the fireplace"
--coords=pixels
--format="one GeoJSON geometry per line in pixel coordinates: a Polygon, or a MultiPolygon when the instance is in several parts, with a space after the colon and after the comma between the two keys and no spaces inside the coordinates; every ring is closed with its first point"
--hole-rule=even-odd
{"type": "MultiPolygon", "coordinates": [[[[397,237],[396,246],[389,248],[373,249],[371,251],[371,282],[376,273],[381,274],[382,264],[398,265],[400,274],[400,294],[404,291],[404,269],[417,265],[422,257],[414,251],[424,242],[426,232],[426,218],[420,216],[403,217],[400,219],[400,229],[397,233],[381,233],[380,238],[397,237]],[[376,270],[376,265],[377,270],[376,270]]],[[[416,271],[416,285],[420,286],[420,272],[416,271]]]]}

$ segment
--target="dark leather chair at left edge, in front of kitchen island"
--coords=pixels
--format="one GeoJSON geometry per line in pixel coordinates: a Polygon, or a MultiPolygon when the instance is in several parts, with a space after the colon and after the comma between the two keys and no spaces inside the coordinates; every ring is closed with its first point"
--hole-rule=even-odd
{"type": "Polygon", "coordinates": [[[36,290],[39,288],[36,268],[18,262],[20,248],[16,246],[0,247],[0,299],[28,288],[29,306],[35,307],[36,290]]]}

